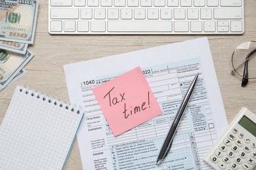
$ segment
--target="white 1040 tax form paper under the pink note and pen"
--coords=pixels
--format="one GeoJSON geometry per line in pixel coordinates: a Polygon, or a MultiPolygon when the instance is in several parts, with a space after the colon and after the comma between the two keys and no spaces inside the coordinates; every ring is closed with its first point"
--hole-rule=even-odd
{"type": "Polygon", "coordinates": [[[85,110],[77,133],[83,169],[211,169],[202,158],[228,123],[206,37],[64,65],[64,73],[70,101],[85,110]],[[135,67],[142,69],[163,113],[114,137],[92,88],[135,67]],[[171,150],[157,165],[182,97],[197,73],[171,150]]]}

